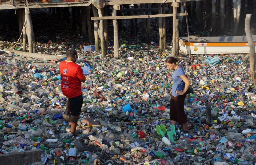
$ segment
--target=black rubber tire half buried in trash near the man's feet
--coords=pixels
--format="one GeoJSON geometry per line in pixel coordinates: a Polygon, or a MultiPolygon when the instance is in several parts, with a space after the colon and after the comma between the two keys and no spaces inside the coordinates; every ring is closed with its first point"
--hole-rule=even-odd
{"type": "MultiPolygon", "coordinates": [[[[92,147],[92,146],[85,145],[83,143],[83,141],[85,141],[85,140],[90,140],[90,139],[88,136],[84,136],[75,141],[75,147],[77,148],[78,151],[90,151],[90,152],[99,151],[99,152],[101,152],[102,149],[100,147],[92,147]]],[[[111,147],[109,142],[107,142],[106,140],[102,140],[102,144],[105,144],[108,147],[111,147]]]]}

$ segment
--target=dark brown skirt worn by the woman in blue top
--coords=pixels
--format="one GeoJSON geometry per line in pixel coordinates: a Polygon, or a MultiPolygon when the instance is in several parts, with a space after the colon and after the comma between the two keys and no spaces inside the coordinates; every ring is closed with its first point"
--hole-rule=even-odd
{"type": "Polygon", "coordinates": [[[186,94],[174,97],[171,95],[170,101],[170,118],[179,123],[179,125],[185,124],[187,122],[187,115],[184,111],[184,101],[186,94]]]}

